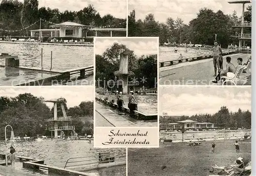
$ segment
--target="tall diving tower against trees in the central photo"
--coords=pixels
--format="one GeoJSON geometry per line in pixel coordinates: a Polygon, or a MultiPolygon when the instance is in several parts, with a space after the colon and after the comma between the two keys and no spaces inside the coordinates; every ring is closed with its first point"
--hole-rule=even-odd
{"type": "Polygon", "coordinates": [[[114,72],[115,77],[118,76],[118,80],[108,81],[108,85],[117,85],[118,92],[122,92],[123,94],[129,94],[129,86],[133,86],[134,90],[135,85],[139,85],[139,81],[129,81],[129,76],[135,75],[132,71],[128,71],[128,56],[131,53],[133,53],[131,50],[119,50],[119,70],[114,72]]]}

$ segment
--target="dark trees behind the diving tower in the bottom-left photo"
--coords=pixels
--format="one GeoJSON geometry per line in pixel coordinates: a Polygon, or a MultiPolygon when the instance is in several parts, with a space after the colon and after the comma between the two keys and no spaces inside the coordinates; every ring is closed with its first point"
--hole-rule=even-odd
{"type": "MultiPolygon", "coordinates": [[[[93,135],[93,102],[84,101],[70,108],[67,107],[66,102],[65,100],[67,116],[71,116],[69,125],[75,126],[78,135],[93,135]]],[[[58,117],[63,117],[59,104],[57,111],[58,117]]],[[[6,125],[11,125],[15,136],[24,137],[25,134],[30,137],[51,136],[51,132],[46,130],[46,124],[47,127],[54,125],[47,123],[46,119],[53,117],[53,108],[50,109],[42,97],[35,97],[30,93],[11,98],[0,97],[0,128],[4,129],[6,125]]],[[[59,125],[61,126],[61,123],[59,125]]],[[[7,134],[9,138],[11,133],[7,134]]],[[[0,139],[5,139],[4,130],[0,131],[0,139]]]]}

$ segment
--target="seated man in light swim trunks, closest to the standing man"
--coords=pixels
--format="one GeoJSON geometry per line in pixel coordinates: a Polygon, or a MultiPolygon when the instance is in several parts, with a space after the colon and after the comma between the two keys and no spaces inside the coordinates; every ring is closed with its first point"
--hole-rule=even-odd
{"type": "Polygon", "coordinates": [[[218,81],[220,81],[221,76],[229,76],[232,77],[234,76],[234,73],[237,71],[236,67],[234,67],[234,64],[231,63],[231,57],[226,57],[227,60],[227,64],[226,64],[226,70],[222,70],[220,69],[219,74],[216,76],[215,80],[212,81],[214,83],[217,83],[218,81]]]}

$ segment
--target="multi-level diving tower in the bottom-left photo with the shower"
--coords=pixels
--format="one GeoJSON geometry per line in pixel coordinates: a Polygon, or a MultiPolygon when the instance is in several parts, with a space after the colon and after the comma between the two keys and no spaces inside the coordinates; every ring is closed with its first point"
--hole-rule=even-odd
{"type": "Polygon", "coordinates": [[[61,131],[71,130],[71,134],[72,134],[72,132],[75,130],[75,126],[69,126],[69,122],[71,121],[71,116],[68,117],[66,114],[65,107],[64,107],[65,99],[64,98],[50,99],[50,100],[46,100],[45,102],[54,103],[54,118],[46,120],[47,122],[54,123],[54,126],[47,128],[48,130],[51,131],[51,136],[52,136],[52,131],[54,131],[54,139],[58,139],[58,131],[60,131],[60,135],[62,135],[61,131]],[[61,105],[61,111],[62,111],[63,117],[58,117],[57,104],[61,105]],[[59,122],[62,122],[65,125],[58,126],[59,122]]]}

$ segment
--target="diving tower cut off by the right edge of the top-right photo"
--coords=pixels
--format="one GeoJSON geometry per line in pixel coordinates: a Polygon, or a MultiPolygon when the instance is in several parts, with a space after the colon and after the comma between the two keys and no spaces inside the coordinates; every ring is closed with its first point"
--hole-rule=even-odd
{"type": "Polygon", "coordinates": [[[251,3],[251,1],[249,1],[249,0],[234,0],[234,1],[229,1],[228,3],[229,4],[242,4],[241,24],[235,24],[234,26],[232,26],[232,27],[241,28],[241,33],[238,34],[238,36],[234,36],[234,37],[237,37],[239,39],[239,48],[242,48],[242,46],[245,46],[245,40],[247,40],[247,39],[251,40],[251,34],[244,34],[244,28],[251,28],[251,22],[244,21],[244,6],[245,6],[245,4],[251,3]]]}

